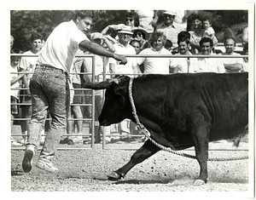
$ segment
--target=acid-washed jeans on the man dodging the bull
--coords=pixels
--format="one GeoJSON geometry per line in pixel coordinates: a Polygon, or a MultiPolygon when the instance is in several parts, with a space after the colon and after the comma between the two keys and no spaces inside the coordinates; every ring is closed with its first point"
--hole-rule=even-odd
{"type": "Polygon", "coordinates": [[[39,145],[41,130],[47,117],[52,118],[40,157],[51,158],[65,133],[67,109],[69,107],[69,86],[67,73],[52,66],[37,66],[29,88],[32,94],[32,118],[28,126],[27,146],[39,145]]]}

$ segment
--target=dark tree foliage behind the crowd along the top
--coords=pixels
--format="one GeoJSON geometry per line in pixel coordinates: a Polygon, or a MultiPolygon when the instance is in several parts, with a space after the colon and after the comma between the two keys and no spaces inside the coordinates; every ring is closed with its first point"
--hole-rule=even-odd
{"type": "MultiPolygon", "coordinates": [[[[32,32],[41,33],[46,40],[55,26],[62,21],[72,20],[77,11],[11,10],[10,32],[15,37],[15,48],[22,51],[31,49],[32,32]]],[[[125,23],[125,10],[93,10],[93,12],[96,23],[91,31],[102,31],[110,24],[125,23]]],[[[211,17],[212,27],[217,32],[219,41],[223,37],[225,29],[230,28],[236,36],[239,36],[242,28],[247,26],[247,10],[201,10],[199,14],[211,17]]],[[[191,20],[188,23],[191,23],[191,20]]]]}

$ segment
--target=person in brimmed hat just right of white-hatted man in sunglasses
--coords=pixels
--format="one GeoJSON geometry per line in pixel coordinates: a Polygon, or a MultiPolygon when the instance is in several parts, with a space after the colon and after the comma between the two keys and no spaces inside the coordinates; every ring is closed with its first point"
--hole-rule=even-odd
{"type": "Polygon", "coordinates": [[[131,29],[133,32],[133,38],[137,39],[141,43],[141,51],[143,49],[150,48],[150,44],[148,43],[148,32],[140,27],[135,27],[131,29]]]}

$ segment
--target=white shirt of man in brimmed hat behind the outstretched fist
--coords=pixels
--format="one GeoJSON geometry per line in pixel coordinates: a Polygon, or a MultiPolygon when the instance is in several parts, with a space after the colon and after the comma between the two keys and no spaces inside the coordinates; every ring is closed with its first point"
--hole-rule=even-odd
{"type": "MultiPolygon", "coordinates": [[[[113,47],[115,49],[115,54],[136,54],[135,49],[128,44],[128,46],[125,48],[125,46],[121,43],[115,43],[113,44],[113,47]]],[[[127,63],[125,65],[119,65],[119,61],[114,60],[113,58],[109,59],[109,64],[114,64],[114,73],[117,74],[133,74],[133,67],[136,66],[136,59],[132,57],[127,57],[127,63]]]]}

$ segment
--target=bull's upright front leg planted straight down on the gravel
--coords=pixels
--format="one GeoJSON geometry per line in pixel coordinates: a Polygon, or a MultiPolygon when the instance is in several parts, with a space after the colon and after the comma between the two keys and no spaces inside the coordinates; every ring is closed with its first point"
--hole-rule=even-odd
{"type": "Polygon", "coordinates": [[[195,157],[200,165],[200,175],[195,180],[194,185],[207,183],[208,171],[208,146],[209,146],[209,125],[203,121],[197,121],[192,130],[193,140],[195,142],[195,157]]]}

